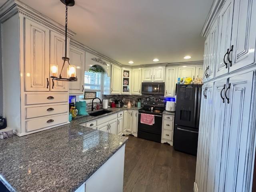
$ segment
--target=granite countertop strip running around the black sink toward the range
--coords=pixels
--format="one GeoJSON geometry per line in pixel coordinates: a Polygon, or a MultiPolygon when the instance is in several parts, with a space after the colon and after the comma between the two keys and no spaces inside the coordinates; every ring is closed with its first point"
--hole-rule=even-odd
{"type": "MultiPolygon", "coordinates": [[[[103,114],[103,115],[99,115],[99,116],[90,116],[90,115],[86,115],[86,116],[77,116],[74,120],[74,123],[75,124],[82,124],[82,123],[86,123],[86,122],[89,122],[89,121],[92,121],[92,120],[96,120],[96,119],[99,119],[99,118],[102,118],[104,116],[108,116],[108,115],[111,115],[111,114],[115,114],[117,112],[120,112],[120,111],[124,111],[124,110],[127,110],[128,108],[127,107],[121,107],[121,108],[108,108],[108,109],[105,109],[105,110],[109,110],[109,111],[112,111],[110,113],[106,113],[106,114],[103,114]]],[[[142,107],[131,107],[129,109],[132,109],[132,110],[140,110],[142,109],[142,107]]],[[[97,111],[101,111],[101,110],[95,110],[93,112],[97,112],[97,111]]],[[[90,114],[91,112],[89,112],[90,114]]]]}

